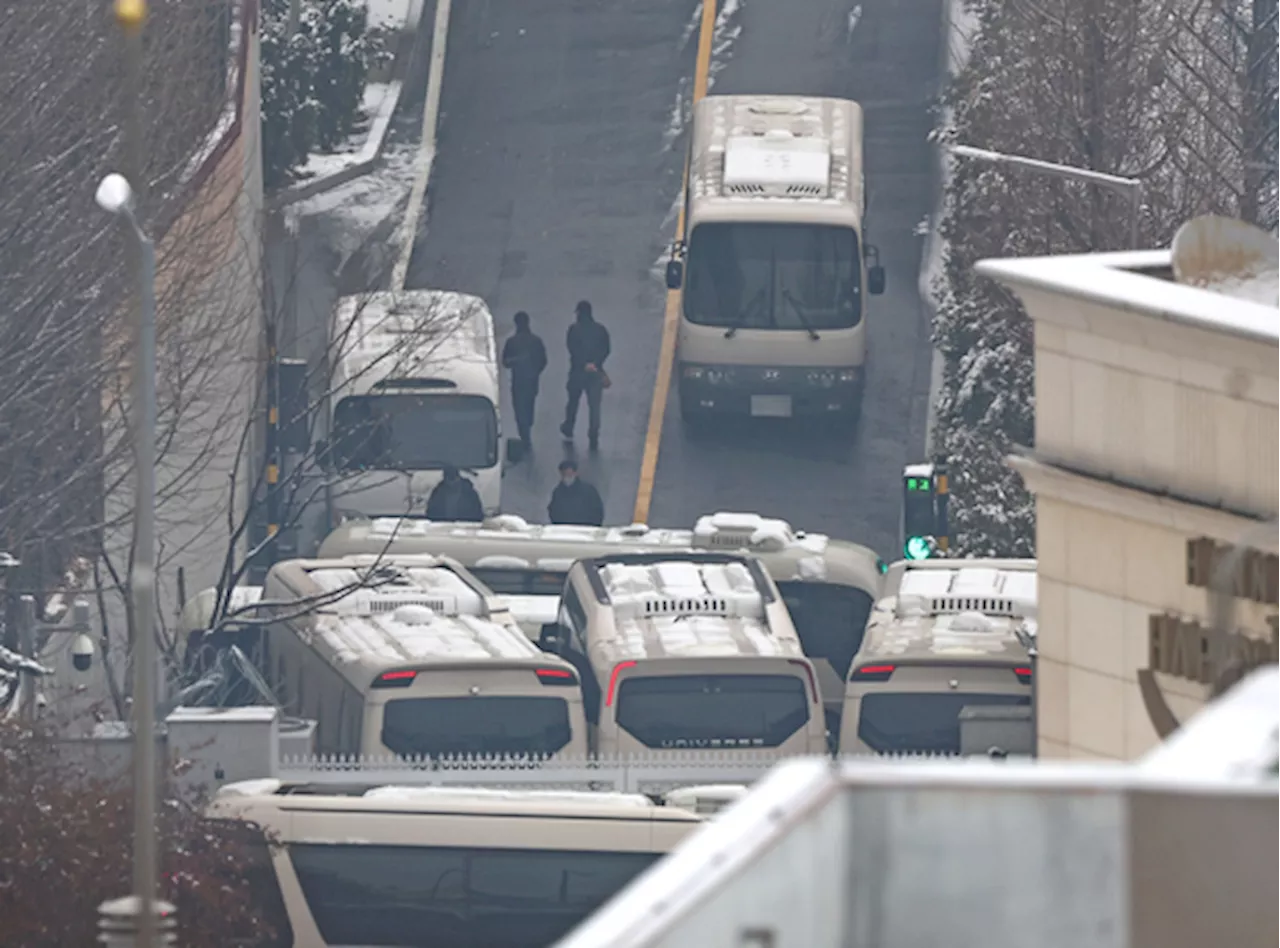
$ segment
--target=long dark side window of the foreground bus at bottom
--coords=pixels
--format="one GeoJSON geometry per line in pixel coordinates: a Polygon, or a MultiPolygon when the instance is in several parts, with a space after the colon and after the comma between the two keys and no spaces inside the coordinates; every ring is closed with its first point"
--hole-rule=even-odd
{"type": "Polygon", "coordinates": [[[294,843],[289,857],[325,944],[545,948],[660,853],[294,843]]]}

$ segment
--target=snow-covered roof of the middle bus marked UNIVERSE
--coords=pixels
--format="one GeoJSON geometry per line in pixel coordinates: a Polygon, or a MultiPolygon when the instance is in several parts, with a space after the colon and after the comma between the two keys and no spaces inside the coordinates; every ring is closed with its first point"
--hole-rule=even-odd
{"type": "MultiPolygon", "coordinates": [[[[769,627],[763,591],[742,563],[605,563],[598,574],[613,617],[609,645],[618,655],[800,654],[794,636],[769,627]]],[[[599,641],[609,641],[603,629],[599,641]]]]}

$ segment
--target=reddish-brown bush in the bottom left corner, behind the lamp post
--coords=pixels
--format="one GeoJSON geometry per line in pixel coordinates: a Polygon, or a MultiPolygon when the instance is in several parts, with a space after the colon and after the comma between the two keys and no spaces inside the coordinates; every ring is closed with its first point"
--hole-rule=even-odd
{"type": "MultiPolygon", "coordinates": [[[[60,760],[46,736],[0,727],[0,943],[95,944],[97,906],[132,892],[132,793],[60,760]]],[[[284,945],[261,832],[168,800],[157,897],[178,907],[183,948],[284,945]]]]}

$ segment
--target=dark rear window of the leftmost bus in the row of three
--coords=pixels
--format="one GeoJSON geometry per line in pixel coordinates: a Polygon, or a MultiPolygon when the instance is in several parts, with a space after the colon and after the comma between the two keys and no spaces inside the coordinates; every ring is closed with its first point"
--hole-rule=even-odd
{"type": "Polygon", "coordinates": [[[562,697],[408,697],[383,707],[383,743],[403,757],[556,754],[570,742],[562,697]]]}

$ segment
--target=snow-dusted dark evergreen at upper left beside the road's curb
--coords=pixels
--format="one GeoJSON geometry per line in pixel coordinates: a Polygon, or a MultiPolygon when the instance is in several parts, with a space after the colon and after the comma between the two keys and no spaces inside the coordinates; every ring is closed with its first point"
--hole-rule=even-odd
{"type": "Polygon", "coordinates": [[[383,35],[366,0],[289,0],[262,8],[262,173],[268,188],[291,179],[312,151],[338,146],[360,118],[369,70],[384,63],[383,35]]]}

